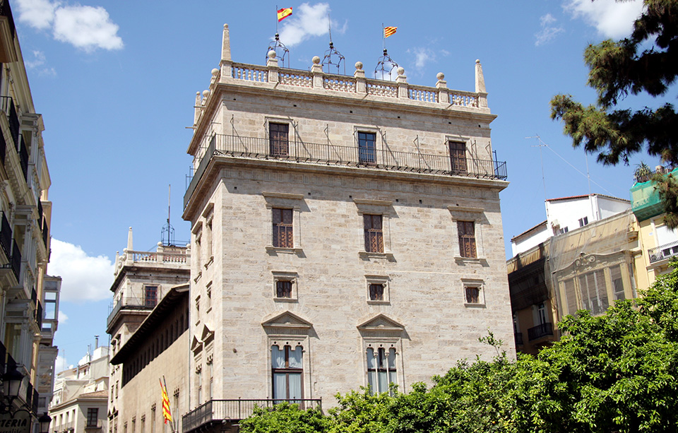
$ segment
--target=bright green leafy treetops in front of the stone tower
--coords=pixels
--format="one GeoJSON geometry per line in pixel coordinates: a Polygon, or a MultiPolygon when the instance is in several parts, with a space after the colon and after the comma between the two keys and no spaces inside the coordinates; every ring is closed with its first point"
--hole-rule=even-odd
{"type": "Polygon", "coordinates": [[[278,405],[244,420],[242,432],[676,432],[678,271],[642,295],[604,316],[567,316],[561,340],[537,356],[510,360],[490,333],[492,361],[460,361],[432,386],[354,391],[327,415],[278,405]]]}

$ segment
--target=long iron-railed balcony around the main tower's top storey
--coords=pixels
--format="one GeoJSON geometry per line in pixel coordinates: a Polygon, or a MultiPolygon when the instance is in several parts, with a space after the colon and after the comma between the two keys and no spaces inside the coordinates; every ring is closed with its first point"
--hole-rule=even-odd
{"type": "Polygon", "coordinates": [[[215,134],[212,136],[209,146],[206,149],[201,149],[196,157],[200,159],[200,162],[195,169],[188,189],[186,189],[184,208],[188,205],[191,195],[194,193],[210,160],[218,155],[231,158],[278,160],[298,164],[359,167],[364,170],[428,173],[501,180],[507,177],[506,162],[496,160],[467,158],[465,167],[459,168],[458,161],[453,163],[449,155],[396,152],[384,148],[375,149],[370,154],[369,162],[365,162],[364,155],[360,155],[357,146],[336,146],[297,141],[289,141],[283,144],[283,146],[285,145],[287,145],[287,148],[281,151],[280,144],[270,146],[268,138],[215,134]]]}

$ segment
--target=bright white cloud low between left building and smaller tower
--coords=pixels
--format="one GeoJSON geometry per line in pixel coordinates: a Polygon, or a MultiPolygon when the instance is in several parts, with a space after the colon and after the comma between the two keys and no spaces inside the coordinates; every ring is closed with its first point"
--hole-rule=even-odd
{"type": "Polygon", "coordinates": [[[114,265],[106,256],[88,256],[79,246],[52,238],[49,274],[60,275],[60,299],[71,302],[100,301],[111,296],[114,265]]]}

